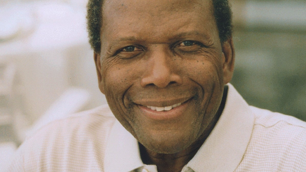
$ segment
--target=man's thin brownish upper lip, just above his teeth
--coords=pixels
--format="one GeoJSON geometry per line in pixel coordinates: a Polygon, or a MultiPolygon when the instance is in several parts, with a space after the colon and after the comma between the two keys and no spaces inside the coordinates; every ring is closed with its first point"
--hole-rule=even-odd
{"type": "Polygon", "coordinates": [[[175,97],[175,98],[168,98],[168,99],[156,99],[156,98],[146,98],[146,99],[140,99],[138,101],[134,101],[134,103],[142,106],[154,106],[154,107],[166,107],[171,106],[177,103],[183,103],[187,100],[191,99],[192,96],[188,97],[175,97]]]}

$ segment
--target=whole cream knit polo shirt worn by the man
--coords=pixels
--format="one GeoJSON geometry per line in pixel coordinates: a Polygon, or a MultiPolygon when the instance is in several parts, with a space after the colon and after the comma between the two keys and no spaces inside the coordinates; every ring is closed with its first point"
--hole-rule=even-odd
{"type": "MultiPolygon", "coordinates": [[[[10,171],[150,171],[107,105],[52,122],[26,140],[10,171]]],[[[249,106],[229,84],[216,126],[184,172],[306,171],[306,123],[249,106]]]]}

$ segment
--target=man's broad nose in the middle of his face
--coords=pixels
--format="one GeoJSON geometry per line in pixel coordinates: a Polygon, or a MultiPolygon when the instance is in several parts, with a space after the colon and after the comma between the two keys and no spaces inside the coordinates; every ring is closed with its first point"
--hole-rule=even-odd
{"type": "Polygon", "coordinates": [[[165,88],[168,85],[179,85],[182,83],[182,78],[177,71],[177,64],[174,63],[170,53],[161,49],[151,52],[146,72],[141,79],[141,86],[154,85],[158,88],[165,88]]]}

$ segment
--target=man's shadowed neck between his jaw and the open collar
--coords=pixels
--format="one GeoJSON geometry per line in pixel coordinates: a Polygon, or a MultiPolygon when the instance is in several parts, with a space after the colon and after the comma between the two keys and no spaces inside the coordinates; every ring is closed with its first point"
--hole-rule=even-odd
{"type": "Polygon", "coordinates": [[[199,137],[199,139],[190,145],[188,148],[181,152],[174,154],[160,154],[148,150],[142,144],[139,143],[140,155],[144,164],[154,164],[157,166],[159,172],[180,172],[182,168],[196,155],[196,152],[200,149],[206,138],[211,133],[212,129],[215,127],[219,117],[222,114],[222,111],[225,106],[226,97],[227,97],[228,87],[224,87],[224,92],[222,96],[222,101],[220,107],[212,119],[207,129],[199,137]]]}

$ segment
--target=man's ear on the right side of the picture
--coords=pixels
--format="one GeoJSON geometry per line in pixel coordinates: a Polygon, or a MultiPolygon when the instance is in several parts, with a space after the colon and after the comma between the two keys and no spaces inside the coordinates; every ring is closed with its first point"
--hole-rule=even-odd
{"type": "Polygon", "coordinates": [[[233,77],[235,49],[232,37],[222,44],[223,52],[223,81],[224,84],[230,82],[233,77]]]}

